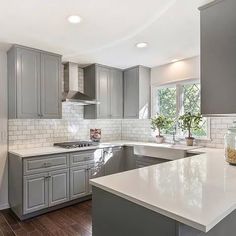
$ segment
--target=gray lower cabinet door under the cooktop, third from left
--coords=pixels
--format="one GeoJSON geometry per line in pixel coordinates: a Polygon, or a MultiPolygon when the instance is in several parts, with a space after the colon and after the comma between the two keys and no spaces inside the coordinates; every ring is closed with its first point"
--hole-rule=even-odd
{"type": "Polygon", "coordinates": [[[70,198],[75,199],[87,195],[88,166],[73,167],[70,170],[70,198]]]}

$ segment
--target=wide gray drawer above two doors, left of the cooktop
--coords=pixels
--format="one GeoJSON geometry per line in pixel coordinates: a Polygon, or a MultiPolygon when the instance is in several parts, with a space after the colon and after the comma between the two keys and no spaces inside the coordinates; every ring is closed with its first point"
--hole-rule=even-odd
{"type": "Polygon", "coordinates": [[[24,159],[24,175],[41,173],[69,167],[68,154],[24,159]]]}

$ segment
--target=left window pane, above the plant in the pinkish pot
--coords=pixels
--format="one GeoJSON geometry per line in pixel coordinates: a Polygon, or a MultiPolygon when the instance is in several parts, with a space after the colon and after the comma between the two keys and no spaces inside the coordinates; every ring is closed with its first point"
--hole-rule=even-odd
{"type": "Polygon", "coordinates": [[[158,110],[167,117],[176,117],[176,88],[158,89],[158,110]]]}

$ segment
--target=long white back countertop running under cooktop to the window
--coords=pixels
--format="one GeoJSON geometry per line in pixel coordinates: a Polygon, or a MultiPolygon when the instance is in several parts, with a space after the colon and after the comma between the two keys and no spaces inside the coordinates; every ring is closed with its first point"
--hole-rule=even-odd
{"type": "Polygon", "coordinates": [[[90,146],[84,148],[72,148],[65,149],[61,147],[40,147],[40,148],[28,148],[22,150],[11,150],[10,154],[17,155],[19,157],[33,157],[33,156],[43,156],[43,155],[51,155],[58,153],[69,153],[69,152],[78,152],[78,151],[86,151],[93,150],[98,148],[105,147],[116,147],[116,146],[150,146],[150,147],[159,147],[159,148],[171,148],[176,150],[189,151],[198,148],[197,146],[188,147],[185,145],[172,145],[172,144],[157,144],[151,142],[136,142],[136,141],[127,141],[127,140],[118,140],[111,142],[102,142],[98,146],[90,146]]]}

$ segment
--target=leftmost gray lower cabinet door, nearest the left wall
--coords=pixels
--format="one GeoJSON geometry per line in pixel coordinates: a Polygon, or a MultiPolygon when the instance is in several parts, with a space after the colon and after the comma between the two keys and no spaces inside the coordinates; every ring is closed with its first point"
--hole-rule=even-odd
{"type": "Polygon", "coordinates": [[[28,214],[48,207],[47,174],[24,177],[23,212],[28,214]]]}

